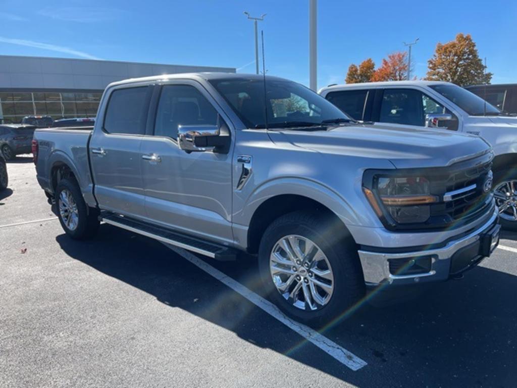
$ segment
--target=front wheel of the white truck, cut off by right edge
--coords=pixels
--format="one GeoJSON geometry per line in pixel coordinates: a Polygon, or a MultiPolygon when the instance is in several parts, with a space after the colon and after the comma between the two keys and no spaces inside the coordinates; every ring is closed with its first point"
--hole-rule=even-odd
{"type": "Polygon", "coordinates": [[[499,207],[499,221],[506,230],[517,231],[517,173],[513,170],[495,173],[494,197],[499,207]]]}

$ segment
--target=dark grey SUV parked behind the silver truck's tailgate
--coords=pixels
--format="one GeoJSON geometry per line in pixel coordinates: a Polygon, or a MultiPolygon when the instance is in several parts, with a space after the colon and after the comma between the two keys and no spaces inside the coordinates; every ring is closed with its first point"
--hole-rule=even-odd
{"type": "Polygon", "coordinates": [[[0,152],[4,159],[11,160],[16,155],[30,154],[35,129],[36,127],[33,125],[0,125],[0,152]]]}

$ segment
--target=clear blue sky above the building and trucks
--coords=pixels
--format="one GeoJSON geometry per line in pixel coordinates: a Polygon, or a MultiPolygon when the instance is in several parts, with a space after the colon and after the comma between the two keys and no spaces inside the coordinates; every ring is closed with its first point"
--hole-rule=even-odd
{"type": "MultiPolygon", "coordinates": [[[[252,15],[267,13],[268,74],[308,84],[308,0],[3,0],[0,53],[229,66],[254,72],[252,15]]],[[[318,85],[351,63],[414,46],[423,77],[437,42],[472,34],[493,83],[517,82],[517,2],[318,1],[318,85]]]]}

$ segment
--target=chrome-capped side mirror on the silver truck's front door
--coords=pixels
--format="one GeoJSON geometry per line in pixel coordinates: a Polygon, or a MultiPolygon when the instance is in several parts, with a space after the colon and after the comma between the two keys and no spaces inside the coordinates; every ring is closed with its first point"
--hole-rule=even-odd
{"type": "Polygon", "coordinates": [[[179,125],[178,145],[188,153],[210,150],[224,153],[230,145],[230,137],[221,135],[217,125],[179,125]]]}

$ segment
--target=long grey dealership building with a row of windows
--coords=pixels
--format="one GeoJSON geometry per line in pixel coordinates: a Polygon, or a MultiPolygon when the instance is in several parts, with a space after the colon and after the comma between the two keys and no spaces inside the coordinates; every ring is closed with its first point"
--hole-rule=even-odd
{"type": "Polygon", "coordinates": [[[104,88],[127,78],[235,68],[0,55],[0,123],[24,116],[95,117],[104,88]]]}

